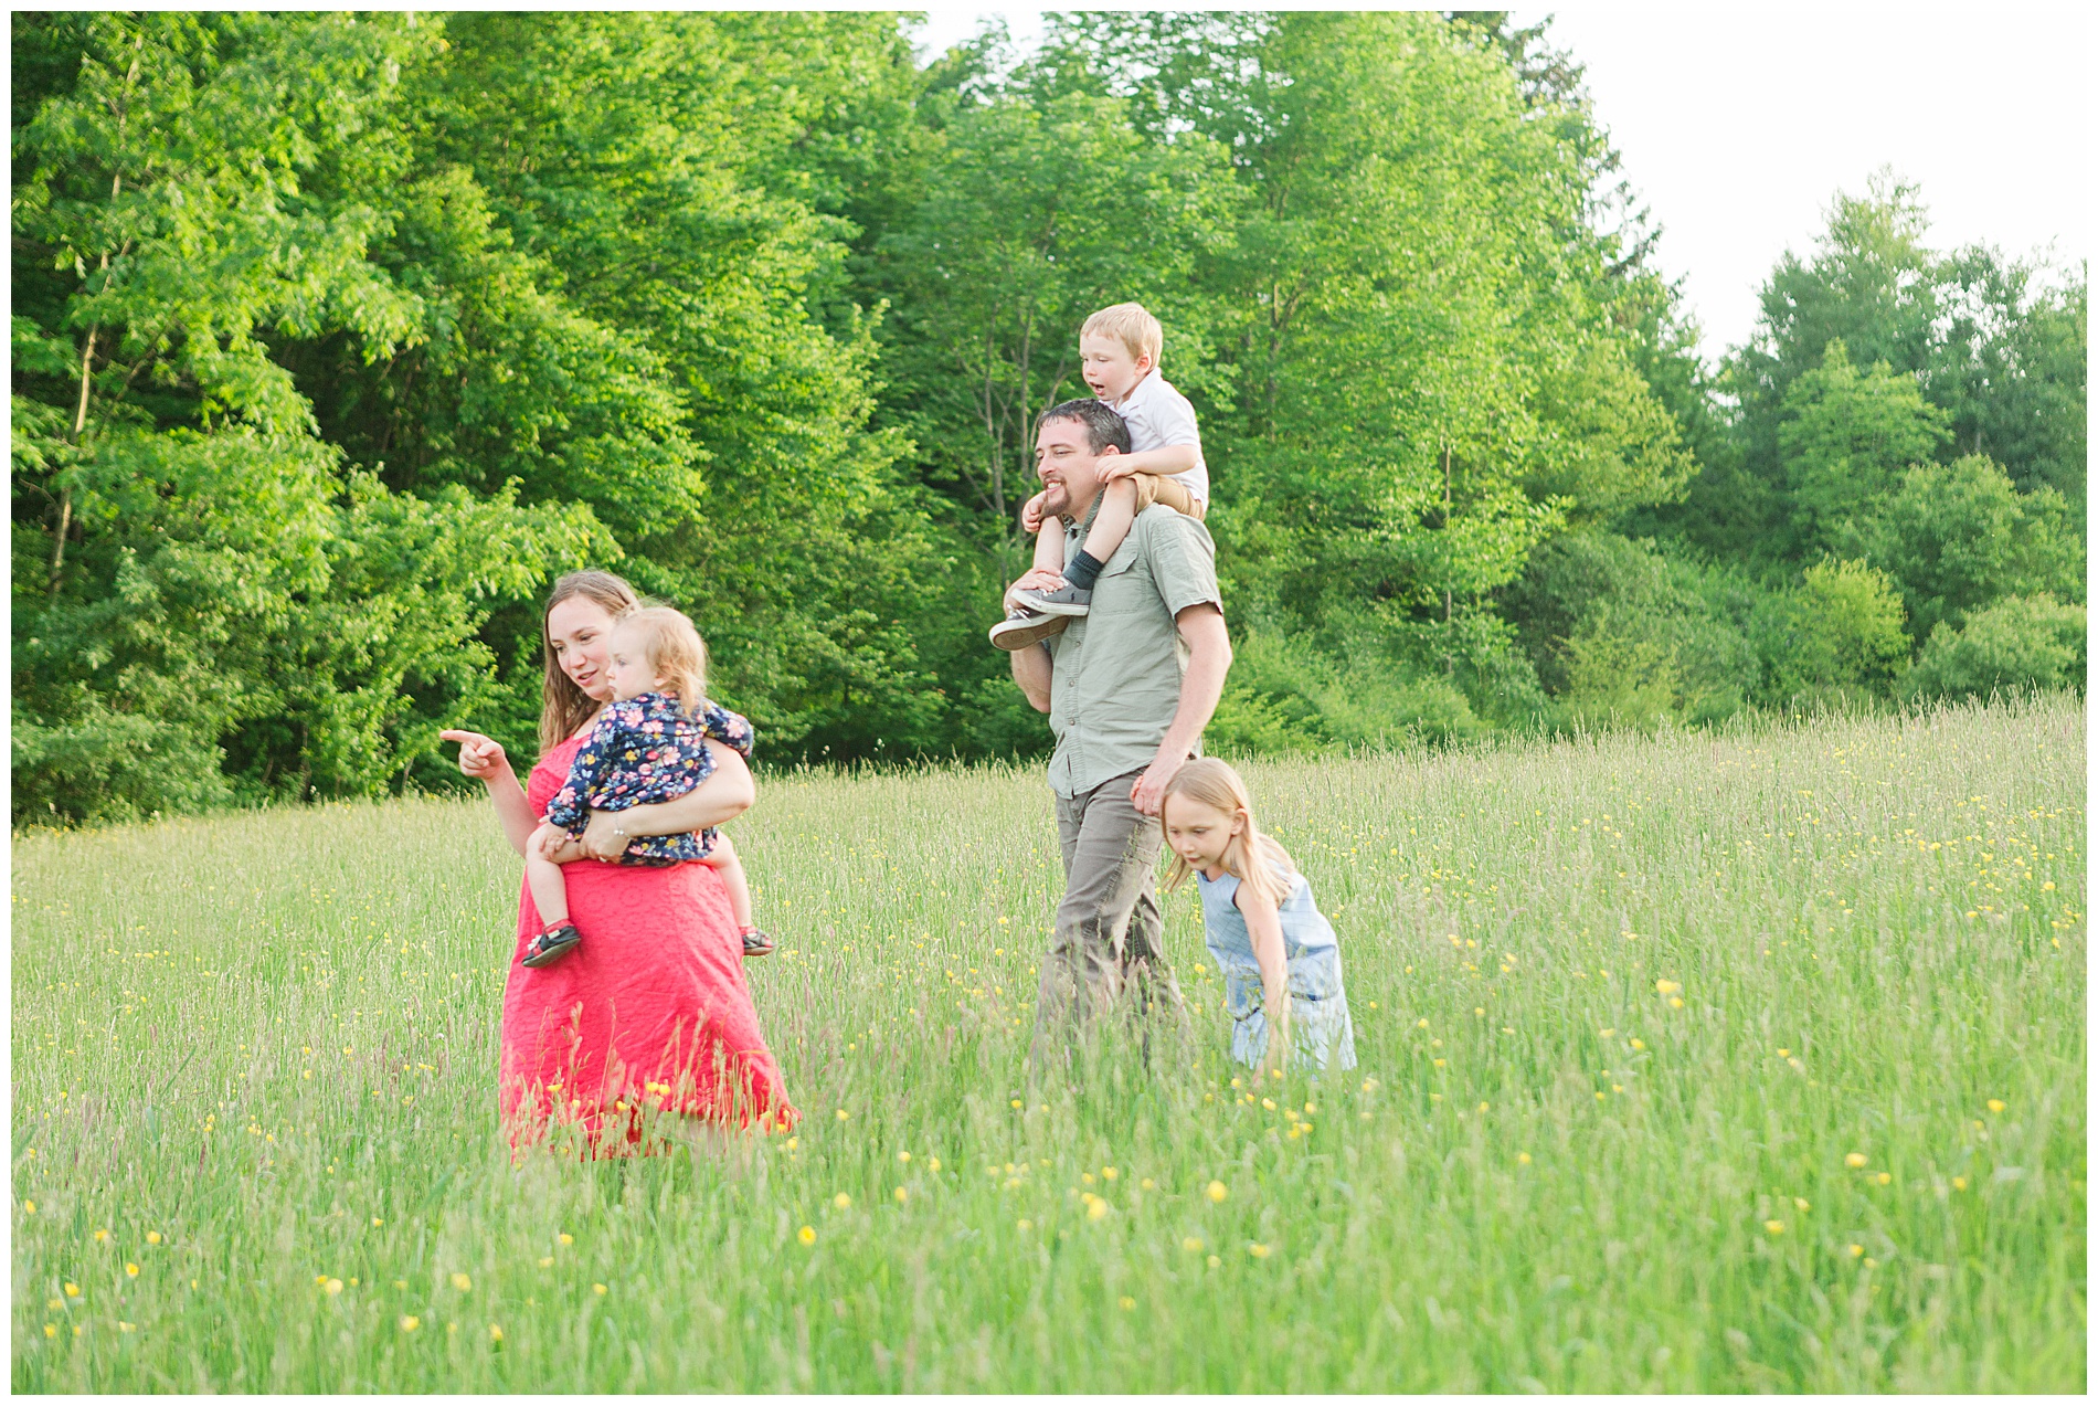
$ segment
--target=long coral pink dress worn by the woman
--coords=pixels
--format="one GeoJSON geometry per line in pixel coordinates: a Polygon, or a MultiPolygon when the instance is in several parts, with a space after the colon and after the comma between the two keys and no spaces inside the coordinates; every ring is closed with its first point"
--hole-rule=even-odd
{"type": "MultiPolygon", "coordinates": [[[[539,758],[524,789],[533,814],[569,776],[583,739],[539,758]]],[[[527,967],[539,930],[531,890],[504,988],[501,1112],[522,1146],[573,1129],[581,1150],[652,1150],[659,1110],[718,1125],[791,1127],[778,1062],[757,1032],[743,980],[743,938],[722,875],[705,865],[562,867],[583,944],[527,967]]]]}

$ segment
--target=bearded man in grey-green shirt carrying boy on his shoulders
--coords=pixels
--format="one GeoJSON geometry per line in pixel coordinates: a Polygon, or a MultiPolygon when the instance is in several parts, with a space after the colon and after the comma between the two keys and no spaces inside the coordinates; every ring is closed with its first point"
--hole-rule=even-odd
{"type": "MultiPolygon", "coordinates": [[[[1129,430],[1101,401],[1064,401],[1043,413],[1034,439],[1043,514],[1078,525],[1066,529],[1064,560],[1085,544],[1099,506],[1099,460],[1114,453],[1129,453],[1129,430]]],[[[1007,606],[1013,592],[1059,585],[1055,573],[1030,571],[1013,581],[1007,606]]],[[[1011,659],[1013,682],[1049,713],[1057,739],[1049,789],[1064,902],[1034,1003],[1032,1062],[1041,1068],[1045,1041],[1125,993],[1181,1011],[1160,940],[1158,802],[1196,755],[1232,667],[1208,529],[1171,508],[1146,508],[1099,569],[1091,613],[1011,659]]]]}

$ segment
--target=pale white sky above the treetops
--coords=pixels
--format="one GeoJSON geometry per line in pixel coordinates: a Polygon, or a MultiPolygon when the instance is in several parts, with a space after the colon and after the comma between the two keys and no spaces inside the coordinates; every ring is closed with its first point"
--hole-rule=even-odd
{"type": "MultiPolygon", "coordinates": [[[[957,6],[927,10],[919,38],[944,48],[988,15],[1041,34],[1041,8],[957,6]]],[[[2090,256],[2083,8],[1565,4],[1515,21],[1544,15],[1664,227],[1660,267],[1687,275],[1708,357],[1748,338],[1771,264],[1880,166],[1922,187],[1939,248],[2090,256]]]]}

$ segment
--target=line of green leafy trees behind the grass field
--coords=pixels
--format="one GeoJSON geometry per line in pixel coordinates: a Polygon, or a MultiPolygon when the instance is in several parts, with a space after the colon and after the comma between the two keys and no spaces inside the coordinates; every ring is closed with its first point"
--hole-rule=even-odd
{"type": "Polygon", "coordinates": [[[984,627],[1122,300],[1217,485],[1213,745],[2081,680],[2081,267],[1876,178],[1708,359],[1542,27],[911,36],[15,17],[15,823],[529,755],[583,564],[770,760],[1041,751],[984,627]]]}

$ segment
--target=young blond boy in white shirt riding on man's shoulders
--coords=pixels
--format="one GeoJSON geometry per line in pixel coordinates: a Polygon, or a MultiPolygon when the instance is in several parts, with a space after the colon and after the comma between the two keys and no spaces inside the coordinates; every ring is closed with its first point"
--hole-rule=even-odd
{"type": "Polygon", "coordinates": [[[1129,535],[1137,514],[1152,504],[1200,520],[1208,512],[1208,466],[1194,405],[1158,374],[1164,329],[1137,302],[1116,302],[1085,319],[1078,357],[1085,384],[1129,426],[1129,453],[1101,460],[1108,489],[1087,529],[1085,546],[1064,560],[1064,523],[1043,518],[1036,493],[1020,525],[1036,533],[1034,567],[1064,577],[1057,590],[1018,592],[1011,615],[990,627],[999,648],[1026,648],[1070,625],[1093,606],[1093,581],[1129,535]]]}

